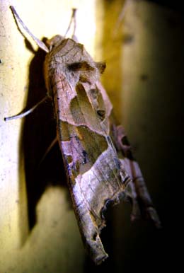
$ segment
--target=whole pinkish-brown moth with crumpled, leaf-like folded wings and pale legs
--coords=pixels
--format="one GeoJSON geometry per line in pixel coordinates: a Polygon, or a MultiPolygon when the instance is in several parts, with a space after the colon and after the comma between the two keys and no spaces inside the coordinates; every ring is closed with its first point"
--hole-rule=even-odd
{"type": "MultiPolygon", "coordinates": [[[[44,64],[47,97],[52,98],[57,141],[67,172],[69,191],[84,245],[99,265],[108,257],[100,240],[103,212],[119,198],[132,202],[131,219],[149,218],[160,226],[125,129],[113,117],[113,105],[100,83],[104,62],[94,62],[84,45],[60,35],[45,43],[25,26],[13,6],[16,23],[47,52],[44,64]]],[[[73,10],[71,21],[75,18],[73,10]]],[[[40,105],[21,115],[23,117],[40,105]]]]}

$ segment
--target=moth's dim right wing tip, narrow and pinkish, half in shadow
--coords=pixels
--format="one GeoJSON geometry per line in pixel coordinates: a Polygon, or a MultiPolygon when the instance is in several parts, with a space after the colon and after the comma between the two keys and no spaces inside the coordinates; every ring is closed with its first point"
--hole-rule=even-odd
{"type": "Polygon", "coordinates": [[[161,227],[159,216],[154,209],[139,164],[132,156],[131,146],[122,125],[113,125],[113,137],[117,151],[121,152],[123,156],[120,161],[125,165],[125,169],[132,179],[125,190],[127,197],[130,197],[133,204],[131,219],[139,219],[139,216],[142,215],[146,219],[151,219],[156,227],[161,227]]]}

